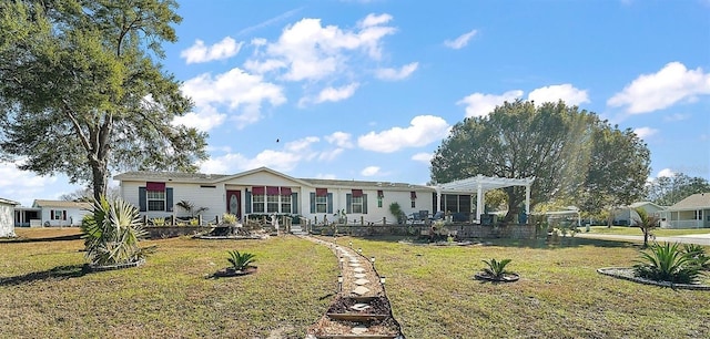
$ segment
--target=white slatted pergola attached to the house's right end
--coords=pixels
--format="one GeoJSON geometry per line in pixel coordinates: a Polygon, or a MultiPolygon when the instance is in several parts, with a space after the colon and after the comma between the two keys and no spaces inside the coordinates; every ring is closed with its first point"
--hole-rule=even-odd
{"type": "Polygon", "coordinates": [[[437,207],[442,210],[442,194],[476,194],[476,220],[480,222],[484,204],[486,203],[485,193],[491,189],[525,186],[525,214],[530,214],[530,185],[535,182],[535,177],[529,178],[507,178],[477,175],[474,177],[455,181],[446,184],[438,184],[436,187],[437,207]]]}

